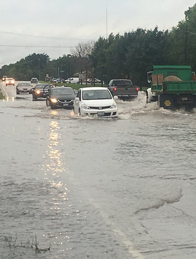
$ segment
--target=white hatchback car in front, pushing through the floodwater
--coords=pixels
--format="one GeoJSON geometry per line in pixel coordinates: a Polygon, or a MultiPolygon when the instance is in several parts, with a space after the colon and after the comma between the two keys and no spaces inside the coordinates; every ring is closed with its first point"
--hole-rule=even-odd
{"type": "Polygon", "coordinates": [[[81,116],[118,117],[117,99],[106,87],[80,88],[73,103],[73,111],[81,116]]]}

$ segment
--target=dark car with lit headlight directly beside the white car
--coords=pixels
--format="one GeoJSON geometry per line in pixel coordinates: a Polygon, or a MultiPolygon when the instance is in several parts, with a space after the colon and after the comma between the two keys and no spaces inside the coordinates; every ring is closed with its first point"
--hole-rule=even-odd
{"type": "Polygon", "coordinates": [[[50,106],[51,109],[73,109],[75,96],[76,94],[71,87],[54,87],[47,94],[46,105],[47,107],[50,106]]]}

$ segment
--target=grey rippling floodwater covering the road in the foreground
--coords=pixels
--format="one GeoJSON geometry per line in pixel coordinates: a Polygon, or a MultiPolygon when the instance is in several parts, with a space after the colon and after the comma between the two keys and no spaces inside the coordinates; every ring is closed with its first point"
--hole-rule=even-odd
{"type": "Polygon", "coordinates": [[[1,259],[195,259],[196,110],[117,103],[0,101],[1,259]]]}

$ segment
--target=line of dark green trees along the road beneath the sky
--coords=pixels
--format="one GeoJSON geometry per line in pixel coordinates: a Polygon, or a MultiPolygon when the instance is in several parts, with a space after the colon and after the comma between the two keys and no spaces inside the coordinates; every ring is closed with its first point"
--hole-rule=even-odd
{"type": "Polygon", "coordinates": [[[153,65],[190,65],[196,71],[196,4],[185,11],[184,20],[169,30],[138,28],[99,37],[96,42],[81,43],[72,54],[50,60],[46,53],[33,53],[15,64],[4,65],[0,76],[17,80],[46,74],[67,79],[74,73],[86,71],[87,77],[110,79],[130,78],[133,83],[147,86],[147,71],[153,65]]]}

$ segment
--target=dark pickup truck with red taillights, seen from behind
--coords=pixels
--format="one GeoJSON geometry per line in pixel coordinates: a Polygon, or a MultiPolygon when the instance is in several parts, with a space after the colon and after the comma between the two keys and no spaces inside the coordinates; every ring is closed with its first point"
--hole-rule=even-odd
{"type": "Polygon", "coordinates": [[[112,79],[108,84],[111,94],[120,98],[137,97],[139,87],[133,85],[129,79],[112,79]]]}

